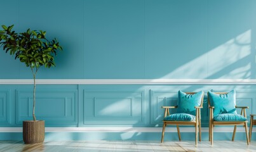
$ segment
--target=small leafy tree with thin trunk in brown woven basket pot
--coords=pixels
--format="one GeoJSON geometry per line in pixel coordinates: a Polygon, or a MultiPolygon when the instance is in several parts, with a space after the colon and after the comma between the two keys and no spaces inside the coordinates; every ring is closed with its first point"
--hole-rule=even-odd
{"type": "Polygon", "coordinates": [[[55,66],[54,56],[58,50],[62,50],[57,39],[49,41],[46,39],[46,32],[30,30],[20,34],[12,30],[14,25],[6,27],[2,25],[0,30],[0,45],[10,55],[15,55],[20,62],[30,68],[34,79],[33,91],[33,120],[23,122],[23,139],[25,144],[43,143],[44,141],[44,120],[36,120],[36,73],[41,66],[50,68],[55,66]]]}

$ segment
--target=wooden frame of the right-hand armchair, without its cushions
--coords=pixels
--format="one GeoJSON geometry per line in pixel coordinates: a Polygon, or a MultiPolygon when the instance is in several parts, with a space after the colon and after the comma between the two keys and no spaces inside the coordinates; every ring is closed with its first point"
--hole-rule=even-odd
{"type": "MultiPolygon", "coordinates": [[[[227,94],[228,92],[214,92],[215,94],[227,94]]],[[[213,127],[215,125],[234,125],[233,135],[232,135],[232,141],[234,141],[234,137],[236,136],[236,125],[243,125],[245,127],[245,134],[246,134],[246,140],[247,144],[249,145],[249,138],[248,138],[248,127],[247,122],[217,122],[213,120],[213,109],[214,106],[210,105],[210,98],[208,94],[208,108],[210,109],[210,118],[209,118],[209,141],[211,142],[211,145],[213,145],[213,127]]],[[[249,108],[248,106],[236,106],[236,108],[241,108],[241,115],[243,115],[246,118],[246,108],[249,108]]]]}

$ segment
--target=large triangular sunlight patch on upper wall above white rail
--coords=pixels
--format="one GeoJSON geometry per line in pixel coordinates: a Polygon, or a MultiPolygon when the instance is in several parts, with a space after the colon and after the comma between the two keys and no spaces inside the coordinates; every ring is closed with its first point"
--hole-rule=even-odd
{"type": "Polygon", "coordinates": [[[250,79],[251,32],[243,32],[160,79],[250,79]]]}

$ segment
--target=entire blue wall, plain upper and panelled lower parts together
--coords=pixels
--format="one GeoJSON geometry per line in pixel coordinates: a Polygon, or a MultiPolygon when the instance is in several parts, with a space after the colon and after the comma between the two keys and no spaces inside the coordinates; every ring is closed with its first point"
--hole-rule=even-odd
{"type": "MultiPolygon", "coordinates": [[[[15,24],[18,32],[46,30],[50,39],[57,37],[64,47],[57,66],[41,68],[38,79],[256,76],[253,0],[10,0],[0,5],[0,25],[15,24]]],[[[32,79],[32,75],[0,49],[0,79],[32,79]]],[[[46,121],[46,127],[161,127],[161,106],[175,105],[177,91],[210,89],[236,89],[238,105],[250,106],[247,115],[256,113],[255,85],[74,84],[37,85],[36,115],[46,121]]],[[[22,127],[22,120],[32,119],[31,101],[32,85],[0,85],[0,127],[22,127]]],[[[203,127],[208,126],[206,102],[205,95],[203,127]]],[[[74,133],[72,137],[121,139],[120,134],[84,133],[84,137],[74,133]]],[[[226,134],[215,137],[229,139],[226,134]]],[[[1,133],[0,139],[21,137],[1,133]]],[[[72,139],[69,133],[46,139],[57,137],[72,139]]],[[[126,139],[158,140],[159,134],[128,133],[126,139]]],[[[208,139],[206,133],[203,139],[208,139]]]]}

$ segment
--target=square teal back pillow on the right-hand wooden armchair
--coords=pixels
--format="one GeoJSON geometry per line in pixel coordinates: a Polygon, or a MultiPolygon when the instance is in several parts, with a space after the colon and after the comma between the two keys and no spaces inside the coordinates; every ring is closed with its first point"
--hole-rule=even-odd
{"type": "Polygon", "coordinates": [[[213,117],[222,113],[236,114],[236,91],[232,90],[227,94],[215,94],[209,91],[208,98],[210,105],[214,106],[213,117]]]}

